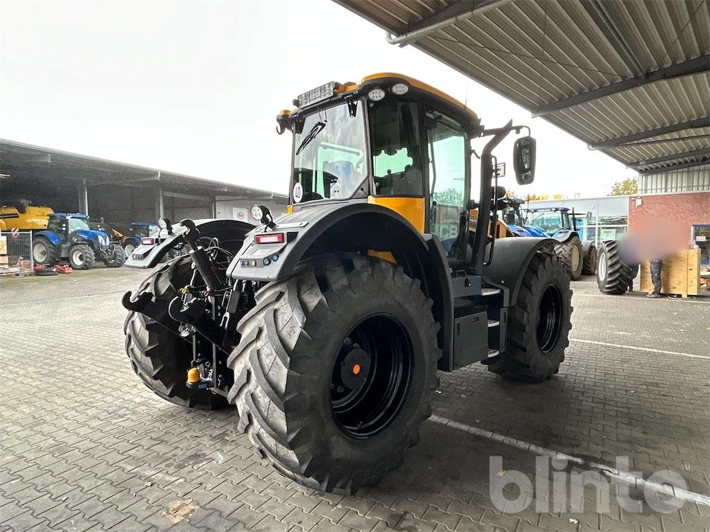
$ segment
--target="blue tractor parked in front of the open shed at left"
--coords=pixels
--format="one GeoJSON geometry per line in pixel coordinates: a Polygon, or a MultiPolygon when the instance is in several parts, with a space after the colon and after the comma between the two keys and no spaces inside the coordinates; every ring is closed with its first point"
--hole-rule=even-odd
{"type": "Polygon", "coordinates": [[[97,259],[114,268],[126,262],[121,245],[89,228],[84,214],[49,214],[47,228],[32,235],[32,256],[35,264],[45,266],[66,260],[75,270],[89,270],[97,259]]]}

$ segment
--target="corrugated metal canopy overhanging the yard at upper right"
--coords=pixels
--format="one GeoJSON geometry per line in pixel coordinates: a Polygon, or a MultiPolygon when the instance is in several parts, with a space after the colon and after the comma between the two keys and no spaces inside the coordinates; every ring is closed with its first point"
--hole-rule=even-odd
{"type": "Polygon", "coordinates": [[[710,0],[334,0],[641,173],[710,160],[710,0]]]}

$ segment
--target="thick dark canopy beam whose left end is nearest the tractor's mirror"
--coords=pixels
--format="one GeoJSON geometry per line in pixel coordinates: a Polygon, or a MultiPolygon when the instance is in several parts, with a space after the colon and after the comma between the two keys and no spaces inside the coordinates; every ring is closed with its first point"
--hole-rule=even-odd
{"type": "Polygon", "coordinates": [[[629,89],[635,89],[636,87],[642,87],[643,85],[655,83],[661,81],[662,79],[692,76],[693,74],[700,74],[701,72],[710,72],[710,55],[701,55],[700,57],[678,63],[677,65],[661,68],[659,70],[655,70],[654,72],[648,72],[643,74],[641,77],[625,79],[623,82],[612,83],[606,87],[600,87],[599,89],[594,89],[589,92],[582,92],[581,94],[576,94],[575,96],[569,96],[569,98],[551,101],[549,104],[533,109],[532,116],[533,118],[537,116],[547,116],[555,111],[562,111],[562,109],[569,109],[569,107],[586,104],[588,101],[603,98],[603,96],[610,96],[611,94],[616,94],[618,92],[628,91],[629,89]]]}

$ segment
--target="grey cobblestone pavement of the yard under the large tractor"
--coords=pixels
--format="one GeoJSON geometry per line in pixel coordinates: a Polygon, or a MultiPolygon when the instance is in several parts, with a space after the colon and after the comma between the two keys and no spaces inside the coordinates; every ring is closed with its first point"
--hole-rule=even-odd
{"type": "MultiPolygon", "coordinates": [[[[583,509],[538,513],[533,503],[504,512],[489,497],[488,463],[501,456],[494,477],[518,470],[535,478],[536,489],[540,480],[559,494],[540,469],[536,475],[535,453],[521,447],[540,445],[606,465],[628,456],[630,470],[646,479],[670,469],[690,492],[709,495],[709,297],[601,296],[593,279],[575,282],[574,340],[559,375],[533,386],[504,382],[479,365],[442,374],[438,421],[424,423],[422,440],[400,470],[342,497],[301,487],[258,460],[236,432],[234,411],[182,409],[143,387],[124,353],[119,299],[145,276],[121,268],[0,279],[0,530],[668,532],[710,526],[710,507],[692,501],[667,514],[648,504],[630,513],[618,503],[616,484],[608,512],[596,511],[594,489],[585,489],[583,509]],[[461,430],[466,426],[472,428],[461,430]],[[501,443],[498,436],[513,439],[501,443]]],[[[558,469],[568,486],[581,471],[574,464],[558,469]]],[[[642,487],[630,493],[643,499],[642,487]]],[[[516,494],[508,484],[506,497],[516,494]]]]}

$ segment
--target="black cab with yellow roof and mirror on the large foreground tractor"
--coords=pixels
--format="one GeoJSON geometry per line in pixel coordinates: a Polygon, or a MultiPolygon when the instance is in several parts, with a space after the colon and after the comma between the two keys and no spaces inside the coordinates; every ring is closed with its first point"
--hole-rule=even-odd
{"type": "MultiPolygon", "coordinates": [[[[450,262],[478,263],[480,270],[486,240],[474,245],[469,226],[476,226],[481,199],[486,222],[497,214],[495,206],[488,208],[490,162],[481,165],[480,179],[472,179],[471,141],[498,133],[497,144],[520,127],[486,131],[464,104],[391,73],[360,84],[331,82],[294,104],[297,109],[277,116],[278,132],[293,132],[291,211],[333,201],[385,206],[419,233],[437,235],[450,262]]],[[[515,166],[527,184],[534,173],[534,140],[518,140],[525,143],[516,143],[515,166]]]]}

